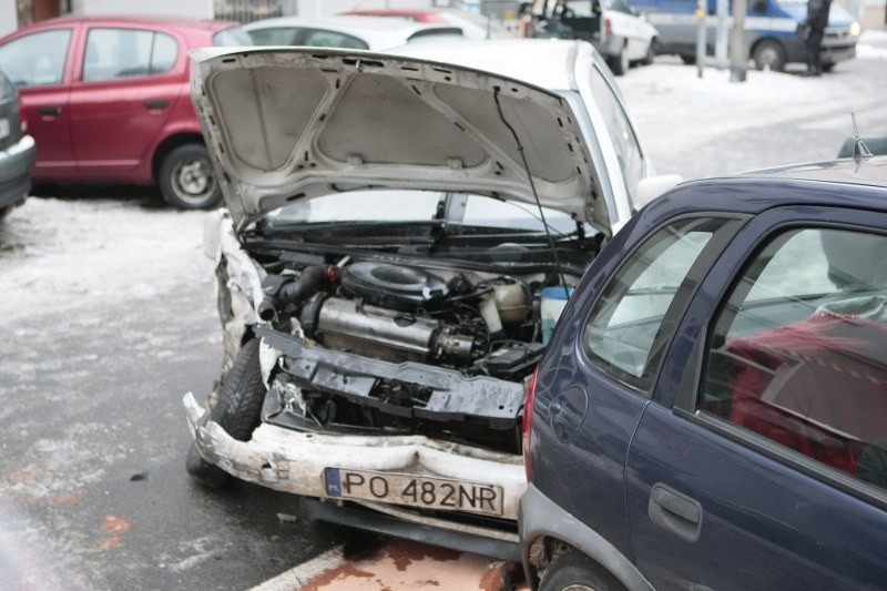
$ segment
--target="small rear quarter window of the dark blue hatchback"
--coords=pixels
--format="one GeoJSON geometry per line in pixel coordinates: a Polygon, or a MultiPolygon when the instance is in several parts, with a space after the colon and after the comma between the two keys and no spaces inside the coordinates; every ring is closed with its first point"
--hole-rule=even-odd
{"type": "Polygon", "coordinates": [[[584,329],[587,355],[604,371],[649,387],[656,347],[670,338],[664,320],[689,273],[722,222],[681,221],[656,232],[610,279],[584,329]]]}

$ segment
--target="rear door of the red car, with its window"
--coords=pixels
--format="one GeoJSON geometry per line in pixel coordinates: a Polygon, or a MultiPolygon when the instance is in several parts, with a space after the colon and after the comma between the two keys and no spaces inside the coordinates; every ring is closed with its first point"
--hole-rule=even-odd
{"type": "Polygon", "coordinates": [[[94,26],[80,50],[70,103],[78,176],[125,179],[147,167],[187,89],[184,48],[170,32],[94,26]]]}

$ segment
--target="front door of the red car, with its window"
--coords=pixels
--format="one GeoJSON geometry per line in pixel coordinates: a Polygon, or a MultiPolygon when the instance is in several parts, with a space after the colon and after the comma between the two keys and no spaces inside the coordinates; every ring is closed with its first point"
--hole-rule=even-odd
{"type": "Polygon", "coordinates": [[[22,119],[38,146],[34,180],[70,177],[71,68],[69,55],[77,28],[63,27],[21,34],[0,47],[0,70],[19,86],[22,119]]]}

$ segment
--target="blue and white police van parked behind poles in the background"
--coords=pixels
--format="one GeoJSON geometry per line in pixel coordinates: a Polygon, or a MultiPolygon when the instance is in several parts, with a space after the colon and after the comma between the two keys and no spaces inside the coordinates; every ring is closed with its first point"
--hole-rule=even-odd
{"type": "MultiPolygon", "coordinates": [[[[706,52],[713,54],[717,0],[706,2],[706,52]]],[[[656,53],[676,53],[684,63],[695,63],[696,0],[633,0],[633,3],[659,30],[656,53]]],[[[745,18],[748,57],[758,70],[781,71],[786,63],[807,61],[804,39],[798,34],[798,26],[806,17],[806,0],[748,0],[745,18]]],[[[820,50],[823,70],[830,71],[839,61],[856,54],[859,32],[859,23],[853,14],[832,2],[820,50]]]]}

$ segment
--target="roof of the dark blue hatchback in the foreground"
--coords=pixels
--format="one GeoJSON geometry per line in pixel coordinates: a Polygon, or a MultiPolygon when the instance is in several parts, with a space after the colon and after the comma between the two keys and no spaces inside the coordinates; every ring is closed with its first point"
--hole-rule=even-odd
{"type": "Polygon", "coordinates": [[[887,213],[887,156],[793,164],[699,179],[654,200],[650,216],[683,212],[758,214],[772,207],[852,206],[887,213]]]}

